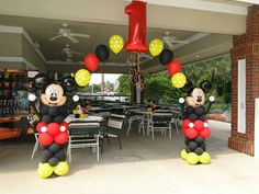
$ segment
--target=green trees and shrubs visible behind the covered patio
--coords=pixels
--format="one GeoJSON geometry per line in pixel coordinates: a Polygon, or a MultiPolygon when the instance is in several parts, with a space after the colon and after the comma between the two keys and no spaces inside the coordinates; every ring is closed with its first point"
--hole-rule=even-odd
{"type": "MultiPolygon", "coordinates": [[[[216,59],[205,60],[183,66],[183,73],[195,87],[202,81],[211,81],[213,89],[210,94],[216,98],[216,102],[230,103],[230,58],[223,56],[216,59]]],[[[171,104],[178,103],[178,99],[185,95],[180,89],[172,87],[168,72],[158,72],[145,76],[144,101],[171,104]]],[[[128,75],[119,78],[117,92],[121,95],[131,95],[131,80],[128,75]]]]}

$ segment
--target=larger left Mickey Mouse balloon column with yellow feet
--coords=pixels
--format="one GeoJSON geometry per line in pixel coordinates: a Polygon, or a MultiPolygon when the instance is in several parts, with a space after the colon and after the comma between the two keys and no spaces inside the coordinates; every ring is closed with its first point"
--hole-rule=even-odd
{"type": "MultiPolygon", "coordinates": [[[[38,144],[42,149],[41,162],[37,173],[41,178],[65,175],[68,170],[67,146],[68,146],[68,123],[66,118],[67,96],[65,92],[76,91],[77,84],[74,78],[65,78],[61,84],[48,83],[47,76],[38,73],[33,79],[33,87],[38,95],[30,94],[30,105],[40,117],[41,122],[36,125],[38,144]],[[40,111],[36,101],[41,99],[40,111]]],[[[78,96],[72,98],[78,101],[78,96]]]]}

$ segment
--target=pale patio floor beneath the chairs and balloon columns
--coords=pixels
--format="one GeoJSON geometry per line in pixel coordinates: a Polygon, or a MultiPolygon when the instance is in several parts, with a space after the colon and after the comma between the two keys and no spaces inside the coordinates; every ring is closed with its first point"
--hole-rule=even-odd
{"type": "Polygon", "coordinates": [[[258,194],[259,159],[227,148],[229,124],[210,126],[207,166],[180,159],[181,134],[153,140],[131,130],[123,150],[105,141],[97,162],[90,149],[75,149],[69,173],[47,180],[36,174],[37,159],[30,160],[32,142],[0,142],[0,194],[258,194]]]}

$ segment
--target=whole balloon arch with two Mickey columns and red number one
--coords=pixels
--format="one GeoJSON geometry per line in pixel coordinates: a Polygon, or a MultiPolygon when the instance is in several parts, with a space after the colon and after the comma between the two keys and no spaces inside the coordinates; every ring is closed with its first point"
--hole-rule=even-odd
{"type": "MultiPolygon", "coordinates": [[[[205,104],[204,93],[209,91],[210,84],[203,82],[200,88],[194,88],[181,72],[181,61],[173,58],[172,50],[164,48],[161,39],[154,38],[147,47],[146,2],[132,1],[125,8],[125,13],[128,14],[130,18],[127,43],[124,45],[124,39],[121,35],[112,35],[109,39],[110,49],[115,55],[120,54],[123,48],[128,52],[131,81],[140,90],[144,89],[142,53],[149,50],[153,57],[159,57],[161,65],[167,66],[172,85],[188,93],[185,100],[179,100],[184,117],[182,133],[185,136],[185,149],[181,151],[181,158],[187,160],[190,164],[209,163],[211,158],[205,151],[205,138],[210,136],[211,130],[207,127],[205,114],[210,111],[214,98],[211,96],[209,99],[210,105],[207,110],[205,110],[203,105],[205,104]],[[193,102],[195,103],[193,104],[193,102]]],[[[43,104],[45,104],[45,110],[41,110],[42,113],[38,113],[38,117],[42,119],[36,126],[36,130],[40,134],[38,141],[44,152],[41,163],[38,164],[40,176],[49,178],[53,174],[65,175],[68,172],[69,167],[66,162],[68,124],[64,122],[64,105],[67,98],[64,91],[71,92],[76,90],[76,83],[79,87],[87,85],[90,82],[91,72],[98,70],[100,61],[104,62],[109,60],[109,47],[106,45],[97,46],[94,54],[88,54],[85,57],[86,69],[78,70],[75,75],[75,79],[64,79],[61,85],[55,83],[47,85],[47,78],[42,73],[34,78],[34,85],[41,91],[41,100],[43,104]],[[44,92],[43,89],[45,87],[47,89],[44,92]],[[48,90],[60,90],[59,93],[63,94],[59,98],[60,105],[53,105],[53,103],[46,100],[50,98],[45,96],[49,93],[48,90]]],[[[56,99],[56,95],[57,94],[55,94],[54,99],[56,99]]],[[[35,110],[35,99],[36,98],[31,96],[30,100],[32,101],[33,110],[35,110]]]]}

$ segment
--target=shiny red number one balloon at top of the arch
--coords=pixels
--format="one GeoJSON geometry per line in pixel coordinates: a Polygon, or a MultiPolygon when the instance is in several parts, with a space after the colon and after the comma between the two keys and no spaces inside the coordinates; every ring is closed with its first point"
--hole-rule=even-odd
{"type": "Polygon", "coordinates": [[[130,16],[128,39],[125,44],[127,52],[147,52],[146,46],[146,2],[132,1],[125,8],[130,16]]]}

